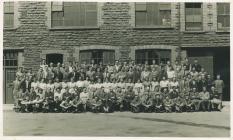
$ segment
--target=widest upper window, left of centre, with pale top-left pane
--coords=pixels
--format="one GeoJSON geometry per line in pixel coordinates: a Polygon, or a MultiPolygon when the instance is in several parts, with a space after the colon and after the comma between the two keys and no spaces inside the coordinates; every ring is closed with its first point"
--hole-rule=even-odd
{"type": "Polygon", "coordinates": [[[97,26],[97,3],[52,2],[52,27],[97,26]]]}

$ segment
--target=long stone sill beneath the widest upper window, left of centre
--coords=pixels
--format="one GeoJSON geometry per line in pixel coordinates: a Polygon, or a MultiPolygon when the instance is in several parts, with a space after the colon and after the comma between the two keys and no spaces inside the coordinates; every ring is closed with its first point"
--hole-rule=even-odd
{"type": "Polygon", "coordinates": [[[74,27],[51,27],[49,30],[55,31],[55,30],[98,30],[99,27],[97,26],[89,26],[89,27],[79,27],[79,26],[74,26],[74,27]]]}

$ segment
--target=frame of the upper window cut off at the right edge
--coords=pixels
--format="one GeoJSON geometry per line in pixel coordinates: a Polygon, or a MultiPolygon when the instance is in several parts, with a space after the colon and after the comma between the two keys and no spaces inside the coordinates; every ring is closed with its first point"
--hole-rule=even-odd
{"type": "Polygon", "coordinates": [[[227,3],[227,2],[218,2],[216,3],[216,12],[217,12],[217,31],[229,31],[230,32],[230,23],[229,23],[229,27],[219,27],[218,25],[218,18],[219,16],[229,16],[229,22],[230,22],[230,3],[227,3]],[[219,4],[229,4],[229,14],[226,14],[226,8],[224,8],[224,14],[219,14],[219,11],[218,11],[218,5],[219,4]]]}

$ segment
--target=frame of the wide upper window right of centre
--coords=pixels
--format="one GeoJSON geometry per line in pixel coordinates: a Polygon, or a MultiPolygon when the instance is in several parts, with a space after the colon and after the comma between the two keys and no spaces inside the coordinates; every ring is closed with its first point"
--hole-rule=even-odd
{"type": "MultiPolygon", "coordinates": [[[[135,2],[134,3],[134,7],[135,7],[135,9],[134,9],[134,12],[135,12],[135,19],[134,19],[134,21],[135,21],[135,25],[134,25],[134,28],[135,29],[157,29],[157,28],[160,28],[160,29],[171,29],[171,28],[173,28],[172,27],[172,7],[171,7],[171,2],[151,2],[151,3],[157,3],[158,4],[158,7],[160,7],[160,5],[161,4],[170,4],[170,9],[169,10],[167,10],[167,9],[160,9],[160,8],[158,8],[158,19],[159,19],[159,21],[158,21],[158,23],[160,24],[160,18],[161,18],[161,12],[160,11],[170,11],[170,24],[169,25],[162,25],[162,24],[158,24],[158,25],[148,25],[148,24],[144,24],[144,25],[137,25],[137,12],[146,12],[146,18],[147,18],[147,15],[148,15],[148,11],[147,11],[147,4],[148,3],[150,3],[150,2],[135,2]],[[144,10],[137,10],[137,4],[140,4],[140,3],[145,3],[145,9],[144,10]]],[[[147,19],[146,19],[147,20],[147,19]]]]}

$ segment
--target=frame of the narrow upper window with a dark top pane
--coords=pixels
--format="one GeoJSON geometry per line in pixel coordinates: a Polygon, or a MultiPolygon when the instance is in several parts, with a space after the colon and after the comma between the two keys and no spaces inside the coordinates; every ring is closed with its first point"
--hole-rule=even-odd
{"type": "Polygon", "coordinates": [[[185,18],[185,31],[188,31],[188,32],[201,32],[203,31],[204,29],[204,22],[203,22],[203,3],[202,2],[186,2],[184,3],[184,18],[185,18]],[[201,26],[200,26],[200,29],[195,29],[195,28],[190,28],[187,29],[187,8],[186,8],[186,4],[201,4],[201,8],[200,8],[200,12],[201,12],[201,15],[200,15],[200,18],[201,18],[201,22],[188,22],[188,23],[201,23],[201,26]]]}

